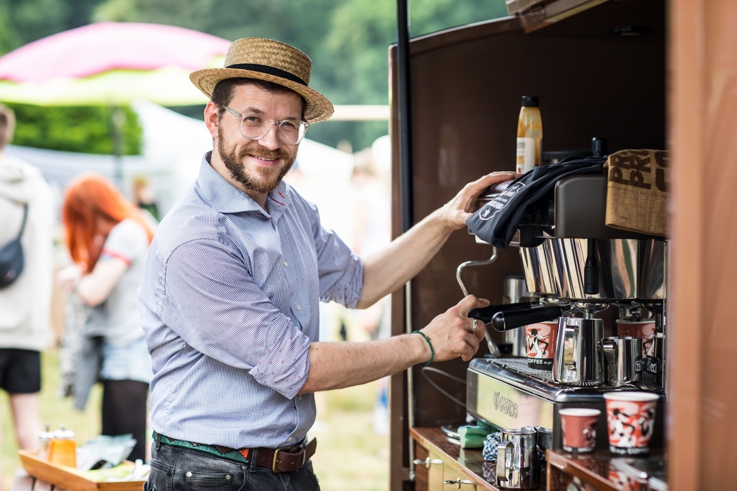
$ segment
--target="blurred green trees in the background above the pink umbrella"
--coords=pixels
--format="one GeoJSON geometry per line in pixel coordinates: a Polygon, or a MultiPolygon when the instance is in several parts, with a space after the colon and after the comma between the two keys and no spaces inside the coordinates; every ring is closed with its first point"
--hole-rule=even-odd
{"type": "MultiPolygon", "coordinates": [[[[0,54],[92,21],[171,24],[228,40],[281,40],[310,55],[310,86],[334,104],[388,104],[396,10],[396,0],[0,0],[0,54]]],[[[503,15],[504,0],[412,0],[411,35],[503,15]]],[[[201,118],[203,106],[174,109],[201,118]]],[[[330,146],[347,140],[362,149],[387,133],[383,121],[328,121],[311,127],[309,138],[330,146]]]]}

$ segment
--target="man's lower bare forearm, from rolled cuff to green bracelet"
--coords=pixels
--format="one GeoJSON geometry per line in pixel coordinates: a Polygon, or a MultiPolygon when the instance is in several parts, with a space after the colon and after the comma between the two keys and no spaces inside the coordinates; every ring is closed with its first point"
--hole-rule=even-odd
{"type": "Polygon", "coordinates": [[[366,384],[429,359],[430,348],[417,334],[360,343],[312,343],[310,373],[299,394],[366,384]]]}

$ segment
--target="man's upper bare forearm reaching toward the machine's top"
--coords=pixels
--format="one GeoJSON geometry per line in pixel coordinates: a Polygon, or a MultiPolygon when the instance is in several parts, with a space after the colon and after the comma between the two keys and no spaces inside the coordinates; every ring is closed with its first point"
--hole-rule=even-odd
{"type": "Polygon", "coordinates": [[[453,229],[434,211],[388,247],[363,260],[363,294],[357,308],[366,308],[396,292],[424,268],[443,247],[453,229]]]}

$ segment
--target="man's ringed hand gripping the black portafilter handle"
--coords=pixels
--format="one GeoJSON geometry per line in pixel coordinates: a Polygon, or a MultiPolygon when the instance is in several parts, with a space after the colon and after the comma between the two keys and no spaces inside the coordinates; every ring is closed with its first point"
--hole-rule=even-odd
{"type": "MultiPolygon", "coordinates": [[[[468,312],[472,308],[482,308],[487,305],[489,305],[489,300],[469,295],[444,314],[433,319],[427,327],[421,330],[433,343],[434,361],[452,360],[458,356],[463,361],[469,361],[475,355],[486,328],[483,322],[478,321],[476,332],[472,333],[473,319],[469,319],[468,312]]],[[[430,359],[429,346],[427,347],[427,359],[430,359]]]]}

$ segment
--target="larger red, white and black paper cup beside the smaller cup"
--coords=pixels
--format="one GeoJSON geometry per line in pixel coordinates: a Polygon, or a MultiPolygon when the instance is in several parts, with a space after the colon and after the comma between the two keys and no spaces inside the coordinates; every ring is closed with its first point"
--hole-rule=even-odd
{"type": "Polygon", "coordinates": [[[619,455],[649,453],[658,396],[650,392],[607,392],[609,451],[619,455]]]}

